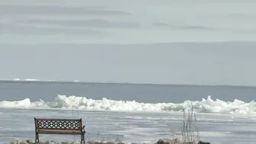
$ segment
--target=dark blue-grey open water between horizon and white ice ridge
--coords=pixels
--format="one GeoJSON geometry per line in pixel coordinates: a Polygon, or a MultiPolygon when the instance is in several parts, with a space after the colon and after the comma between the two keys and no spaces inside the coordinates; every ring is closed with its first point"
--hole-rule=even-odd
{"type": "Polygon", "coordinates": [[[130,85],[78,82],[0,82],[0,101],[53,101],[57,94],[83,96],[92,99],[113,99],[147,103],[201,101],[212,99],[249,102],[256,99],[256,87],[199,85],[130,85]]]}

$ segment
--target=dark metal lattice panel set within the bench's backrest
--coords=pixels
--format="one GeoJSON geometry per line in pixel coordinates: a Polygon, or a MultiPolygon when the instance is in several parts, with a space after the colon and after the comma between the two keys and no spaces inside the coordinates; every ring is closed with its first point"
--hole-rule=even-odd
{"type": "Polygon", "coordinates": [[[79,130],[79,121],[62,121],[62,120],[38,120],[40,129],[72,129],[79,130]]]}

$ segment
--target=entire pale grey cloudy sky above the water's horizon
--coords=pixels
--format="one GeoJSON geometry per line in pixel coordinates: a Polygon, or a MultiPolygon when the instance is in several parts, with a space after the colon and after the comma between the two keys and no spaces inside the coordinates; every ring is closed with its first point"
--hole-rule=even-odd
{"type": "Polygon", "coordinates": [[[256,42],[238,42],[256,41],[255,8],[251,0],[2,0],[0,78],[256,85],[256,42]]]}

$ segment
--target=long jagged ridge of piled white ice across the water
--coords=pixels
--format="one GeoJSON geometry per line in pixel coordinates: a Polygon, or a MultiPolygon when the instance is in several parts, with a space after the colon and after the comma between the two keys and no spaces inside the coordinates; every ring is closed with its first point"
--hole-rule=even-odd
{"type": "Polygon", "coordinates": [[[60,110],[107,110],[107,111],[130,111],[130,112],[163,112],[182,111],[194,105],[198,113],[219,113],[219,114],[256,114],[256,103],[251,101],[245,103],[235,99],[234,101],[213,101],[210,96],[202,101],[184,101],[181,104],[174,103],[139,103],[136,101],[114,101],[107,98],[94,100],[91,98],[57,95],[55,101],[31,102],[29,98],[21,101],[0,101],[0,108],[14,109],[60,109],[60,110]]]}

